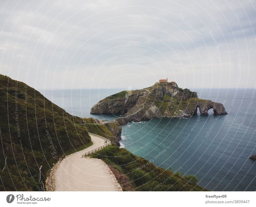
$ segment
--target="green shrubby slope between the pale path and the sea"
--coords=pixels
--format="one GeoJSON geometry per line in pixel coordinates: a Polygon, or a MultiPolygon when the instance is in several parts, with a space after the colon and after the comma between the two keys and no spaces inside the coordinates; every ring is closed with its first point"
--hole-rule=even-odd
{"type": "Polygon", "coordinates": [[[133,155],[124,148],[109,146],[91,155],[104,160],[120,173],[128,176],[136,191],[205,191],[196,184],[195,176],[184,176],[178,172],[156,167],[148,160],[133,155]]]}

